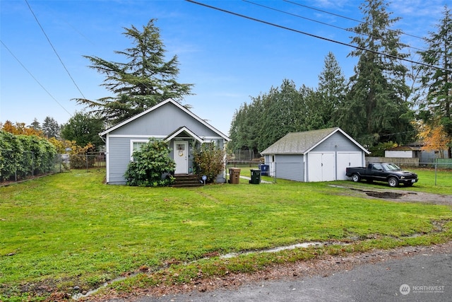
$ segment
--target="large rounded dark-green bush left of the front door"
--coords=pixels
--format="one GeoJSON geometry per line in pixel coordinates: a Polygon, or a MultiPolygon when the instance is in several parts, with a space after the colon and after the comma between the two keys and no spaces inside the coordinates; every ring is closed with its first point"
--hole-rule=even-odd
{"type": "Polygon", "coordinates": [[[124,178],[127,185],[140,187],[165,187],[174,182],[171,176],[176,163],[169,158],[165,141],[150,139],[147,144],[133,152],[133,161],[129,163],[124,178]]]}

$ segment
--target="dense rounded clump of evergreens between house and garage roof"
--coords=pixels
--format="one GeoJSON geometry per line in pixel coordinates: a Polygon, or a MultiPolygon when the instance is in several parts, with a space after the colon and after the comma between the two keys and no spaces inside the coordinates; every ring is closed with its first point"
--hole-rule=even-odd
{"type": "Polygon", "coordinates": [[[283,80],[280,87],[270,88],[244,103],[234,114],[228,149],[263,151],[288,132],[323,128],[323,110],[311,88],[283,80]],[[319,126],[320,125],[320,126],[319,126]]]}

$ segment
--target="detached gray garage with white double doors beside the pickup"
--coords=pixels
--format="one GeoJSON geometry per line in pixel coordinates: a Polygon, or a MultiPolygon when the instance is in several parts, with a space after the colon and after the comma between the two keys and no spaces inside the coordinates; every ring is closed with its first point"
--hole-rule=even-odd
{"type": "Polygon", "coordinates": [[[261,152],[270,175],[300,182],[347,180],[345,168],[369,153],[338,127],[291,132],[261,152]]]}

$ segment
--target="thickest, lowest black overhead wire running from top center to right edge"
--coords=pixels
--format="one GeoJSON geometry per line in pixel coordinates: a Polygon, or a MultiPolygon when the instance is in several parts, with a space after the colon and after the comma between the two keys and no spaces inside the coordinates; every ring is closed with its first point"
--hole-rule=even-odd
{"type": "Polygon", "coordinates": [[[410,59],[405,59],[405,58],[401,58],[401,57],[396,57],[396,56],[394,56],[394,55],[392,55],[392,54],[384,54],[383,52],[376,52],[375,50],[369,50],[369,49],[367,49],[367,48],[359,47],[359,46],[357,46],[357,45],[351,45],[351,44],[348,44],[348,43],[345,43],[345,42],[340,42],[340,41],[337,41],[337,40],[328,39],[327,37],[321,37],[321,36],[319,36],[319,35],[313,35],[313,34],[311,34],[311,33],[306,33],[306,32],[304,32],[304,31],[302,31],[302,30],[296,30],[296,29],[294,29],[294,28],[288,28],[288,27],[283,26],[283,25],[278,25],[278,24],[275,24],[275,23],[270,23],[270,22],[268,22],[268,21],[263,21],[263,20],[261,20],[261,19],[257,19],[257,18],[253,18],[253,17],[250,17],[250,16],[242,15],[242,14],[240,14],[240,13],[234,13],[233,11],[227,11],[226,9],[219,8],[219,7],[216,7],[216,6],[210,6],[210,5],[208,5],[208,4],[203,4],[203,3],[201,3],[201,2],[197,2],[197,1],[194,1],[194,0],[185,0],[185,1],[191,2],[191,3],[193,3],[193,4],[198,4],[198,5],[200,5],[200,6],[205,6],[205,7],[207,7],[207,8],[212,8],[212,9],[215,9],[215,10],[217,10],[217,11],[222,11],[223,13],[230,13],[231,15],[234,15],[234,16],[237,16],[237,17],[241,17],[241,18],[246,18],[246,19],[248,19],[248,20],[256,21],[256,22],[258,22],[258,23],[263,23],[263,24],[266,24],[266,25],[275,26],[276,28],[282,28],[282,29],[284,29],[284,30],[290,30],[290,31],[292,31],[292,32],[294,32],[294,33],[300,33],[300,34],[302,34],[302,35],[308,35],[309,37],[316,37],[317,39],[325,40],[325,41],[328,41],[328,42],[333,42],[333,43],[336,43],[336,44],[345,45],[345,46],[348,46],[348,47],[353,47],[353,48],[356,48],[357,50],[364,50],[364,51],[366,51],[366,52],[372,52],[372,53],[374,53],[374,54],[380,54],[380,55],[382,55],[382,56],[390,57],[390,58],[392,58],[392,59],[399,59],[399,60],[402,60],[402,61],[405,61],[405,62],[410,62],[410,63],[412,63],[412,64],[418,64],[418,65],[427,66],[427,67],[430,67],[430,68],[436,68],[436,69],[441,69],[441,70],[444,70],[444,71],[452,72],[451,69],[446,69],[446,68],[443,68],[443,67],[441,67],[441,66],[433,66],[433,65],[429,65],[429,64],[422,63],[422,62],[416,62],[416,61],[413,61],[413,60],[410,60],[410,59]]]}

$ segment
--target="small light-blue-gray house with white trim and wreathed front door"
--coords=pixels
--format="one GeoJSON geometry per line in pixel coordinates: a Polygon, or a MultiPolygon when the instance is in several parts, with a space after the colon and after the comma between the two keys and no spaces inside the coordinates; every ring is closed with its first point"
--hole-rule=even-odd
{"type": "MultiPolygon", "coordinates": [[[[213,142],[220,149],[225,148],[230,138],[215,129],[205,120],[194,115],[172,99],[159,103],[104,132],[107,157],[107,183],[123,185],[124,173],[133,151],[139,149],[150,138],[167,141],[172,149],[169,156],[176,163],[175,174],[193,173],[194,148],[213,142]]],[[[224,173],[223,173],[224,174],[224,173]]],[[[225,175],[219,175],[218,182],[225,182],[225,175]]]]}

